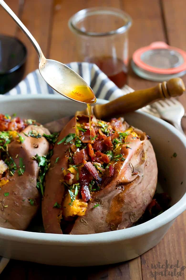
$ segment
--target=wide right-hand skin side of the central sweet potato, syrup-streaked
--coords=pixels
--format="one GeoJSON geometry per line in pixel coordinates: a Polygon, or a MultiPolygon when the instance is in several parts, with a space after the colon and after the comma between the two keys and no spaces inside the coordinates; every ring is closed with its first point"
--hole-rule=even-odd
{"type": "MultiPolygon", "coordinates": [[[[112,180],[93,195],[85,215],[77,218],[70,234],[128,228],[144,213],[156,190],[158,169],[152,144],[142,131],[137,132],[144,140],[134,139],[132,149],[126,149],[126,160],[117,163],[112,180]],[[100,205],[93,208],[95,204],[100,205]]],[[[132,141],[131,136],[128,141],[132,141]]]]}

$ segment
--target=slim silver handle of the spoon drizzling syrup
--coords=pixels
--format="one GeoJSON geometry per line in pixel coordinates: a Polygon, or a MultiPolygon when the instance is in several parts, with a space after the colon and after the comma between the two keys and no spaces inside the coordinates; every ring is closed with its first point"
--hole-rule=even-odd
{"type": "Polygon", "coordinates": [[[34,46],[38,54],[39,60],[41,60],[41,58],[44,57],[44,55],[36,39],[32,36],[32,34],[30,33],[30,31],[28,31],[26,26],[21,22],[21,20],[16,16],[16,14],[10,9],[10,7],[3,0],[0,0],[0,4],[4,8],[4,10],[11,16],[11,18],[13,18],[13,20],[23,31],[23,33],[25,33],[25,35],[28,37],[28,39],[30,40],[30,42],[32,43],[32,45],[34,46]]]}

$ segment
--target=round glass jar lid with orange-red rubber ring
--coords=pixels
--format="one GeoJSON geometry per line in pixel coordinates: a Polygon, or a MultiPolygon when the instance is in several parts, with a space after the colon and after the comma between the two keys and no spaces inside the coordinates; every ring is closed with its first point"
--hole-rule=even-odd
{"type": "Polygon", "coordinates": [[[131,65],[142,78],[164,81],[186,73],[186,52],[164,42],[154,42],[136,50],[131,65]]]}

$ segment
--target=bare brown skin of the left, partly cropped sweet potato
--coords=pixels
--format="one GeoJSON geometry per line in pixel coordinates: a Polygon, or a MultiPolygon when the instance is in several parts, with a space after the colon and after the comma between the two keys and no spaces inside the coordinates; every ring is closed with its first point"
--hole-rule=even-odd
{"type": "Polygon", "coordinates": [[[42,126],[29,125],[20,132],[20,135],[25,138],[23,143],[13,141],[8,144],[9,155],[18,169],[19,158],[23,158],[25,172],[19,176],[17,169],[13,176],[8,176],[9,182],[1,187],[0,227],[25,230],[40,205],[40,195],[36,187],[39,169],[37,161],[33,160],[32,156],[46,155],[49,152],[49,143],[45,137],[34,138],[23,134],[23,132],[28,134],[32,130],[36,130],[41,135],[50,134],[49,130],[42,126]],[[4,193],[9,195],[5,197],[4,193]],[[34,201],[34,205],[30,204],[30,199],[34,201]]]}

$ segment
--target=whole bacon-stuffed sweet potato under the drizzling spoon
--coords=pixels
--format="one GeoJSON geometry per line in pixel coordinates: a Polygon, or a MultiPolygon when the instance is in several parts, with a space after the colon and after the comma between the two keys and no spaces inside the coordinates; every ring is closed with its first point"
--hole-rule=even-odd
{"type": "Polygon", "coordinates": [[[61,131],[45,178],[45,232],[92,234],[131,227],[151,202],[157,163],[146,134],[122,118],[74,117],[61,131]]]}

